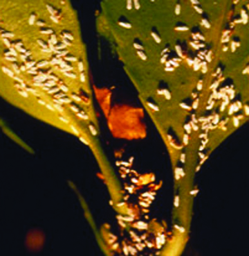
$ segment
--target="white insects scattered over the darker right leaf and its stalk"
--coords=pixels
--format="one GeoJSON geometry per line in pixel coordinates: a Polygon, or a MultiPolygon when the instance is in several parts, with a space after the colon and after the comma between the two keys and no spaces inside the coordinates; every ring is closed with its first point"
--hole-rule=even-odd
{"type": "MultiPolygon", "coordinates": [[[[218,129],[225,132],[228,130],[230,121],[232,121],[232,126],[239,127],[239,122],[245,116],[249,116],[249,103],[242,103],[241,96],[236,91],[233,80],[224,76],[223,65],[219,64],[216,67],[212,67],[212,70],[209,70],[210,63],[214,59],[214,53],[212,51],[212,44],[206,42],[201,27],[206,30],[210,29],[210,19],[208,14],[204,12],[199,0],[190,0],[190,3],[192,8],[194,8],[194,11],[201,16],[199,26],[190,28],[185,22],[176,22],[174,31],[179,33],[179,35],[180,33],[183,33],[183,35],[185,35],[185,33],[190,33],[189,39],[183,41],[177,40],[174,49],[172,49],[169,44],[166,44],[163,51],[160,52],[160,64],[163,65],[166,72],[173,72],[184,64],[186,64],[187,67],[190,67],[193,71],[201,71],[199,81],[196,84],[196,87],[192,90],[191,96],[187,99],[183,99],[183,101],[179,103],[179,106],[188,113],[185,123],[183,124],[183,138],[179,139],[172,128],[169,128],[167,133],[170,146],[176,150],[181,150],[178,164],[174,169],[175,180],[181,180],[186,174],[184,171],[185,146],[190,143],[193,131],[199,131],[199,160],[196,165],[196,171],[199,171],[201,165],[208,159],[208,143],[210,142],[210,133],[212,133],[212,130],[218,129]],[[203,87],[206,87],[205,74],[208,72],[212,76],[209,87],[210,95],[205,105],[205,113],[201,114],[199,112],[200,96],[203,92],[203,87]]],[[[230,51],[234,53],[241,46],[241,40],[239,37],[233,36],[233,34],[237,24],[248,24],[249,3],[243,5],[239,10],[239,13],[237,13],[235,10],[238,3],[239,0],[232,1],[228,22],[225,24],[225,28],[223,28],[221,33],[220,44],[222,51],[228,51],[228,49],[230,49],[230,51]]],[[[181,0],[177,0],[174,8],[176,17],[181,15],[181,11],[181,0]]],[[[124,16],[122,16],[122,19],[118,20],[118,25],[128,30],[133,28],[129,19],[124,16]]],[[[156,44],[163,42],[160,32],[155,26],[151,29],[150,37],[152,37],[156,44]]],[[[146,38],[149,38],[149,35],[147,35],[146,38]]],[[[140,60],[149,60],[146,47],[138,37],[133,42],[133,48],[136,50],[136,55],[140,60]]],[[[246,67],[243,67],[241,73],[243,75],[249,74],[249,62],[246,64],[246,67]]],[[[160,86],[158,86],[157,94],[164,96],[168,101],[172,99],[172,90],[169,89],[167,83],[161,82],[160,86]]],[[[158,103],[156,103],[152,97],[147,99],[147,105],[153,112],[160,111],[158,103]]],[[[198,191],[199,189],[194,188],[190,191],[190,195],[196,196],[198,191]]],[[[176,194],[174,198],[174,206],[178,207],[179,205],[180,197],[176,194]]],[[[183,227],[178,228],[178,230],[184,232],[183,227]]]]}

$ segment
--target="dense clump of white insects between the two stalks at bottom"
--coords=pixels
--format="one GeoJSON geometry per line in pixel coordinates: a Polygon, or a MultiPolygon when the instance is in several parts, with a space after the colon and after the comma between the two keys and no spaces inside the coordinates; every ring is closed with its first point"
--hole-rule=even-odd
{"type": "Polygon", "coordinates": [[[126,204],[131,214],[117,216],[120,234],[116,236],[110,232],[107,244],[113,255],[158,255],[160,248],[167,242],[169,233],[166,224],[151,219],[149,207],[162,182],[156,184],[154,173],[139,174],[133,170],[133,157],[129,161],[118,160],[116,165],[124,184],[124,202],[117,206],[126,204]],[[129,231],[126,230],[127,225],[129,231]]]}

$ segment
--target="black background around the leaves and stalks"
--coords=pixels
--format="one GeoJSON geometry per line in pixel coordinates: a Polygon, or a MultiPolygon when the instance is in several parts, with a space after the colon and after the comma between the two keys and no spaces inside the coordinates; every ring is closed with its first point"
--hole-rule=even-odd
{"type": "MultiPolygon", "coordinates": [[[[87,2],[75,0],[73,6],[79,13],[83,39],[89,44],[93,77],[101,80],[94,30],[94,10],[99,6],[98,1],[87,2]]],[[[98,164],[89,148],[3,100],[0,110],[15,132],[35,149],[35,155],[30,155],[0,133],[0,255],[102,255],[66,183],[73,180],[80,187],[98,224],[111,223],[114,214],[108,205],[107,189],[96,178],[98,164]],[[40,253],[28,253],[24,245],[31,228],[39,228],[46,235],[40,253]]],[[[158,179],[163,180],[152,216],[169,218],[169,158],[153,124],[148,117],[146,120],[147,138],[127,144],[127,156],[135,156],[138,171],[156,171],[158,179]]],[[[246,123],[214,151],[196,176],[200,192],[194,201],[192,233],[185,255],[249,255],[248,145],[246,123]]]]}

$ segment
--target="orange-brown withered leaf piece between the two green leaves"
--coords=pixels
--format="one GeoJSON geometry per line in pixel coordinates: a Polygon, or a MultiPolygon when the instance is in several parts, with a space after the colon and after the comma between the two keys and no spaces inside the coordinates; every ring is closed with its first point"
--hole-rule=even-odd
{"type": "Polygon", "coordinates": [[[94,90],[113,137],[128,140],[146,137],[145,114],[142,108],[129,103],[112,102],[111,89],[94,87],[94,90]]]}

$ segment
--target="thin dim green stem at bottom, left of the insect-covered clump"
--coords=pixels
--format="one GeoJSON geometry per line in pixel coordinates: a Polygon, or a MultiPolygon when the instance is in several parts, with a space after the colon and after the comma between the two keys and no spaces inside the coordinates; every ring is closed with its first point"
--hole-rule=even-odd
{"type": "Polygon", "coordinates": [[[100,232],[97,228],[97,225],[93,219],[93,215],[91,214],[91,211],[89,209],[89,206],[86,203],[86,200],[84,200],[82,194],[80,194],[80,191],[77,189],[77,187],[75,186],[75,184],[73,182],[71,182],[70,180],[68,180],[68,185],[69,187],[71,187],[71,189],[73,189],[73,191],[75,192],[75,194],[77,195],[77,197],[80,200],[80,205],[82,206],[83,210],[84,210],[84,216],[86,218],[86,221],[88,221],[91,229],[93,230],[93,234],[95,235],[95,239],[98,243],[98,245],[100,246],[100,249],[102,250],[102,252],[104,253],[104,255],[106,256],[111,256],[110,251],[107,248],[107,245],[104,244],[104,241],[100,235],[100,232]]]}

